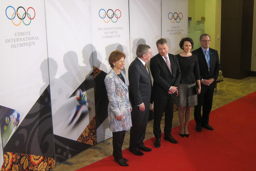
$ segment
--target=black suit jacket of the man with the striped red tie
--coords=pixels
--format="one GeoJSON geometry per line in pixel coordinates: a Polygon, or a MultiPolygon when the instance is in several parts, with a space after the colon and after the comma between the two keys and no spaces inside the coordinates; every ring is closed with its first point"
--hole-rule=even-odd
{"type": "Polygon", "coordinates": [[[175,55],[168,53],[172,74],[162,56],[158,53],[150,60],[150,70],[153,76],[153,98],[168,99],[170,96],[175,97],[176,93],[169,95],[171,86],[178,87],[181,80],[181,70],[178,59],[175,55]]]}

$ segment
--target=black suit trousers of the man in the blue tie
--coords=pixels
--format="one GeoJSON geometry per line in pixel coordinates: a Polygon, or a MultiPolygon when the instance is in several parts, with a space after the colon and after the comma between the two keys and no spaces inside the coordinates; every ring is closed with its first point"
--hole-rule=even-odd
{"type": "Polygon", "coordinates": [[[208,86],[201,84],[201,93],[197,95],[198,104],[194,108],[194,117],[197,125],[209,124],[209,115],[212,109],[214,89],[209,89],[208,86]],[[203,106],[203,113],[201,116],[201,106],[203,106]]]}

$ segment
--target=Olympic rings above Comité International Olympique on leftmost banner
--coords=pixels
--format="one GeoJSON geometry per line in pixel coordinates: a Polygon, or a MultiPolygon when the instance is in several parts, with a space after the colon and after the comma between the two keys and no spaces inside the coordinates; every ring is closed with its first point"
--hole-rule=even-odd
{"type": "MultiPolygon", "coordinates": [[[[22,9],[20,9],[20,10],[22,10],[22,9]]],[[[10,11],[10,10],[9,10],[9,11],[10,11]]],[[[35,18],[35,10],[34,10],[34,8],[32,8],[32,7],[28,7],[28,9],[27,9],[27,11],[26,11],[23,6],[19,6],[19,7],[17,8],[17,10],[15,11],[15,8],[14,8],[13,6],[8,6],[8,7],[6,8],[6,10],[5,10],[5,15],[6,15],[6,17],[7,17],[9,20],[12,20],[12,23],[13,23],[14,25],[16,25],[16,26],[18,26],[18,25],[21,23],[21,21],[22,21],[25,25],[29,25],[29,24],[31,23],[31,20],[35,18]],[[8,17],[8,15],[7,15],[7,10],[8,10],[8,8],[13,8],[13,10],[14,10],[14,13],[12,14],[12,17],[11,17],[11,18],[8,17]],[[22,16],[18,13],[18,10],[19,10],[20,8],[22,8],[22,9],[24,10],[24,13],[23,13],[22,16]],[[29,9],[31,9],[31,10],[34,11],[34,16],[33,16],[33,17],[31,17],[31,15],[28,13],[28,11],[31,12],[31,10],[29,10],[29,9]],[[17,14],[17,17],[20,19],[20,21],[19,21],[18,24],[15,24],[14,21],[13,21],[13,19],[16,17],[16,14],[17,14]],[[28,17],[28,19],[30,19],[30,22],[27,23],[27,24],[24,22],[24,19],[26,18],[26,16],[28,17]]]]}

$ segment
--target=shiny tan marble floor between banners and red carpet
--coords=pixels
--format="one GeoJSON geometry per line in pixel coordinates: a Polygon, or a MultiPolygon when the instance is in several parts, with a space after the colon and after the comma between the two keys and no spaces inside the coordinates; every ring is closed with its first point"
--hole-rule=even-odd
{"type": "MultiPolygon", "coordinates": [[[[256,91],[256,77],[250,76],[242,80],[224,78],[223,82],[217,84],[217,95],[215,95],[215,91],[214,91],[212,110],[219,108],[221,106],[224,106],[254,91],[256,91]]],[[[193,111],[194,109],[192,109],[191,120],[194,119],[193,111]]],[[[161,125],[162,125],[161,127],[163,132],[164,118],[162,118],[161,125]]],[[[178,118],[178,112],[176,111],[174,112],[172,126],[176,127],[178,125],[179,125],[179,118],[178,118]]],[[[154,137],[153,120],[149,121],[147,124],[145,140],[152,137],[154,137]]],[[[123,150],[129,147],[129,138],[130,138],[129,133],[126,133],[123,150]]],[[[110,144],[105,144],[103,142],[96,144],[96,147],[102,148],[101,150],[95,150],[90,148],[67,160],[73,163],[72,166],[60,164],[55,168],[53,168],[52,170],[53,171],[74,171],[112,155],[112,151],[113,151],[112,138],[108,139],[107,141],[109,141],[110,144]]]]}

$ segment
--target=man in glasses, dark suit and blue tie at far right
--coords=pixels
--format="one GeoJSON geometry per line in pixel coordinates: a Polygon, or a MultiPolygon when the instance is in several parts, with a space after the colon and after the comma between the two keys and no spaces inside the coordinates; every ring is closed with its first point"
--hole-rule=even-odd
{"type": "Polygon", "coordinates": [[[218,51],[209,48],[211,37],[209,34],[200,36],[201,47],[194,50],[192,53],[197,55],[200,69],[201,93],[197,95],[198,105],[194,109],[194,117],[196,121],[196,130],[202,131],[202,126],[208,130],[213,130],[209,125],[209,114],[212,109],[212,99],[214,88],[219,74],[219,55],[218,51]],[[201,115],[201,106],[203,112],[201,115]]]}

